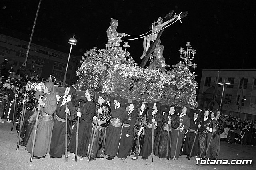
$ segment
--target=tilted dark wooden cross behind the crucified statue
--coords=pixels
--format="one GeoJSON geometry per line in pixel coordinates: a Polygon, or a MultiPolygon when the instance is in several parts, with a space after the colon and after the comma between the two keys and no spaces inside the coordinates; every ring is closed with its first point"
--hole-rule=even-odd
{"type": "MultiPolygon", "coordinates": [[[[174,11],[172,10],[172,11],[170,11],[168,14],[166,14],[166,16],[164,17],[164,21],[163,21],[163,22],[166,22],[166,21],[171,20],[172,18],[174,18],[174,16],[172,16],[173,12],[174,12],[174,11]]],[[[180,18],[186,17],[187,14],[188,14],[188,11],[182,12],[182,14],[180,14],[180,18]]],[[[178,18],[177,18],[177,19],[178,19],[178,18]]],[[[176,19],[176,20],[177,20],[177,19],[176,19]]],[[[174,20],[174,21],[175,21],[175,20],[174,20]]],[[[165,28],[165,27],[166,27],[166,25],[163,26],[163,28],[165,28]]],[[[150,45],[150,47],[148,48],[147,55],[143,58],[143,60],[142,60],[142,62],[141,62],[141,64],[140,64],[140,67],[141,67],[141,68],[144,68],[145,65],[146,65],[146,63],[148,62],[148,58],[149,58],[149,56],[151,55],[151,53],[154,51],[154,48],[155,48],[155,46],[156,46],[156,43],[158,42],[158,40],[159,40],[160,36],[162,35],[163,31],[164,31],[164,29],[161,30],[161,31],[158,33],[158,36],[157,36],[156,40],[155,40],[154,42],[152,42],[151,45],[150,45]]]]}

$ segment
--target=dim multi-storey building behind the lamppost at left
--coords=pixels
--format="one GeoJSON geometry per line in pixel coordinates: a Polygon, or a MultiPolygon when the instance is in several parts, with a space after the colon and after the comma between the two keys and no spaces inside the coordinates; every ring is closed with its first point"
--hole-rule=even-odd
{"type": "MultiPolygon", "coordinates": [[[[0,34],[0,62],[2,63],[5,58],[8,59],[10,65],[17,71],[25,61],[28,41],[24,39],[28,39],[28,36],[21,33],[17,34],[17,32],[14,35],[18,38],[0,34]],[[22,37],[26,38],[22,40],[20,39],[22,37]]],[[[35,43],[31,44],[25,73],[28,76],[38,74],[39,77],[44,77],[44,79],[47,79],[51,74],[57,80],[63,81],[70,48],[44,40],[38,41],[38,39],[36,41],[33,39],[32,42],[35,43]]],[[[72,53],[77,54],[75,50],[72,50],[72,53]]],[[[67,83],[76,82],[76,70],[80,66],[80,59],[81,55],[70,55],[66,76],[67,83]]]]}

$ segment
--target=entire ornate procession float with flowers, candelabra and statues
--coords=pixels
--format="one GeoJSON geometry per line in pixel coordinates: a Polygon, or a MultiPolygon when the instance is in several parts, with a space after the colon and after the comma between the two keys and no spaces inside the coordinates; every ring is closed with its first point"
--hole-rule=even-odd
{"type": "Polygon", "coordinates": [[[160,45],[160,34],[158,34],[168,23],[172,24],[171,22],[182,18],[182,14],[172,16],[171,19],[170,13],[169,18],[165,17],[164,20],[158,18],[157,24],[152,24],[153,33],[143,37],[144,40],[153,40],[152,47],[150,46],[152,50],[144,49],[144,56],[142,56],[150,59],[150,66],[147,68],[138,67],[127,50],[130,47],[128,42],[124,42],[121,47],[121,38],[129,35],[118,33],[116,31],[118,21],[111,18],[111,26],[107,30],[109,40],[105,45],[106,49],[94,47],[86,51],[81,58],[81,66],[76,71],[79,77],[76,90],[84,91],[86,88],[93,88],[98,93],[123,97],[129,103],[158,101],[162,103],[163,111],[168,111],[167,107],[170,105],[195,109],[197,82],[194,80],[196,76],[194,73],[197,66],[191,60],[194,59],[196,52],[192,49],[190,42],[187,42],[186,49],[179,49],[183,61],[167,66],[162,55],[163,45],[160,45]],[[154,35],[156,37],[153,37],[154,35]]]}

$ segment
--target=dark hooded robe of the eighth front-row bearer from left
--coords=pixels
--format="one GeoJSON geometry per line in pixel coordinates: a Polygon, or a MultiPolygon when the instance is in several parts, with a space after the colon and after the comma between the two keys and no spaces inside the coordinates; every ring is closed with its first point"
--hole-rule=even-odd
{"type": "MultiPolygon", "coordinates": [[[[154,140],[156,137],[156,133],[161,130],[161,127],[163,125],[163,115],[160,113],[160,111],[157,111],[157,113],[154,114],[155,121],[157,121],[157,127],[154,129],[154,140]]],[[[152,124],[152,113],[148,113],[147,117],[147,123],[152,124]]],[[[154,144],[154,141],[153,141],[154,144]]],[[[152,152],[152,128],[148,127],[146,128],[144,141],[143,141],[143,147],[141,150],[141,156],[142,158],[148,158],[148,156],[151,155],[152,152]]]]}

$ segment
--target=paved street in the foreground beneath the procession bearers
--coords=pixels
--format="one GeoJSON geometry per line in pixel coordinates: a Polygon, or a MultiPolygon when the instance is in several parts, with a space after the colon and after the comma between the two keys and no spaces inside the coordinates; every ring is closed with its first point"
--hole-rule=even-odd
{"type": "Polygon", "coordinates": [[[252,159],[252,165],[196,165],[195,158],[188,160],[186,156],[181,156],[179,160],[164,160],[154,156],[154,162],[151,158],[142,160],[131,160],[132,156],[128,156],[126,160],[114,158],[114,160],[106,160],[104,158],[97,158],[90,163],[87,163],[87,157],[84,160],[74,162],[71,157],[68,157],[68,162],[65,162],[65,156],[62,158],[46,158],[33,160],[30,162],[30,154],[25,150],[24,146],[20,146],[17,151],[17,133],[15,130],[16,123],[14,123],[14,131],[11,132],[11,123],[0,123],[0,169],[1,170],[17,170],[17,169],[104,169],[104,170],[235,170],[235,169],[256,169],[256,147],[255,146],[242,146],[240,144],[227,144],[221,142],[220,158],[228,159],[252,159]]]}

